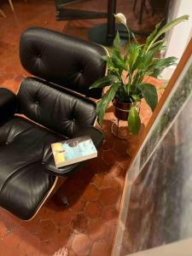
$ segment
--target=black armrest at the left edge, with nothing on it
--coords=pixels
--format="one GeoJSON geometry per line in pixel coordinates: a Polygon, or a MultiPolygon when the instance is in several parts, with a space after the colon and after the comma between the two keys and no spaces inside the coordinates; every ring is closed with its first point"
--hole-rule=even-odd
{"type": "Polygon", "coordinates": [[[14,115],[16,109],[17,98],[15,94],[6,88],[0,88],[0,123],[14,115]]]}

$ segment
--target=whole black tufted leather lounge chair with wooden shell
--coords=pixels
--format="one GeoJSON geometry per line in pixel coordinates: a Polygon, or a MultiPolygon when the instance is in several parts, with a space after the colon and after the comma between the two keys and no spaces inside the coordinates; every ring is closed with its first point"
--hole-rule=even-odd
{"type": "Polygon", "coordinates": [[[17,95],[0,89],[0,206],[18,218],[33,218],[82,164],[57,169],[50,143],[90,135],[100,147],[89,97],[100,98],[102,90],[89,86],[106,72],[104,54],[100,45],[44,28],[22,34],[20,61],[33,77],[23,79],[17,95]]]}

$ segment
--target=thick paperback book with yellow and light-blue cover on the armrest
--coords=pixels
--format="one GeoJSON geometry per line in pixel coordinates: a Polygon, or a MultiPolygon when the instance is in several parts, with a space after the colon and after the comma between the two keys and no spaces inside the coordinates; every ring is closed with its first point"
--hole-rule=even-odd
{"type": "Polygon", "coordinates": [[[76,137],[61,143],[51,144],[55,166],[72,165],[97,156],[94,143],[89,136],[76,137]]]}

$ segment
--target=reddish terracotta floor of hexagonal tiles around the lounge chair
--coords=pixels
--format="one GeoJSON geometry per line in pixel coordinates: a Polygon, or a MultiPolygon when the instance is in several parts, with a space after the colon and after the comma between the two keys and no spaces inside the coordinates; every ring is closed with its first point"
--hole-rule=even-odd
{"type": "MultiPolygon", "coordinates": [[[[67,22],[55,21],[55,5],[51,0],[13,3],[15,15],[8,1],[1,1],[7,18],[0,17],[0,87],[16,92],[20,80],[27,75],[18,55],[20,33],[28,26],[63,31],[67,22]]],[[[151,113],[144,104],[141,114],[146,125],[151,113]]],[[[127,141],[113,137],[110,131],[113,119],[112,108],[108,108],[102,127],[105,142],[98,158],[87,162],[63,185],[69,207],[56,205],[53,197],[31,222],[22,222],[0,210],[0,256],[53,255],[63,246],[69,249],[70,256],[110,255],[125,173],[139,143],[139,137],[131,135],[127,141]]]]}

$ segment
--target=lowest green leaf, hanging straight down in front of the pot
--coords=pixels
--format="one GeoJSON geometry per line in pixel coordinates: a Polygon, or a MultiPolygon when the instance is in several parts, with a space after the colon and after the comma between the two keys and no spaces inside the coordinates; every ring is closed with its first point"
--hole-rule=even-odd
{"type": "Polygon", "coordinates": [[[128,116],[128,125],[130,131],[137,135],[141,127],[141,119],[136,107],[131,107],[128,116]]]}

